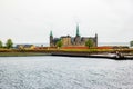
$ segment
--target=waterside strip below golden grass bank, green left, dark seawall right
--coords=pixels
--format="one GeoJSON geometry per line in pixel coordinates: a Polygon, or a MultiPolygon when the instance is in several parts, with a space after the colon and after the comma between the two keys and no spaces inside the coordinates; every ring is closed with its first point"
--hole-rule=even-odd
{"type": "Polygon", "coordinates": [[[133,55],[116,57],[115,53],[88,53],[88,52],[0,52],[0,57],[38,57],[38,56],[57,56],[57,57],[79,57],[79,58],[104,58],[114,60],[133,60],[133,55]]]}

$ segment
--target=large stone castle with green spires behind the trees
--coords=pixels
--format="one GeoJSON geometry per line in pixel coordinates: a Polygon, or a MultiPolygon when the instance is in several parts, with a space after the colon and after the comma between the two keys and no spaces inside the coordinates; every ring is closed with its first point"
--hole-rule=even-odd
{"type": "Polygon", "coordinates": [[[81,37],[79,33],[79,26],[76,26],[75,37],[62,36],[53,38],[52,31],[50,32],[50,47],[57,47],[58,41],[62,41],[62,47],[84,47],[88,40],[93,42],[93,47],[98,47],[98,34],[95,37],[81,37]]]}

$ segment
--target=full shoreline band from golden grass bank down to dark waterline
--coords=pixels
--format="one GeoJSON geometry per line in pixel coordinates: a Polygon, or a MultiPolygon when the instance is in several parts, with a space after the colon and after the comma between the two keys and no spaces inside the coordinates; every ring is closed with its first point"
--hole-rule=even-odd
{"type": "Polygon", "coordinates": [[[84,57],[84,58],[106,58],[114,60],[133,60],[133,49],[1,49],[0,57],[30,57],[30,56],[59,56],[59,57],[84,57]],[[116,53],[119,52],[119,53],[116,53]]]}

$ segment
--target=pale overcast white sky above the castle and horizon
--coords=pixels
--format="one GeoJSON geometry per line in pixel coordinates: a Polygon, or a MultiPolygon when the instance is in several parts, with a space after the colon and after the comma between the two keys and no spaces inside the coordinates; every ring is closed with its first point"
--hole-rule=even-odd
{"type": "Polygon", "coordinates": [[[54,37],[99,36],[99,42],[133,40],[133,0],[0,0],[0,40],[47,43],[54,37]]]}

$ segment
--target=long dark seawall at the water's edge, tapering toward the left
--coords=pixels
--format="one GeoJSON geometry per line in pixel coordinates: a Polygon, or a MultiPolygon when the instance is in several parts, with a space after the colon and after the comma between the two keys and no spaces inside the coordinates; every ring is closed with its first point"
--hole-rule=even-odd
{"type": "Polygon", "coordinates": [[[52,56],[63,56],[63,57],[85,57],[85,58],[108,58],[116,60],[133,60],[133,56],[117,56],[116,53],[85,53],[85,52],[52,52],[52,56]]]}

